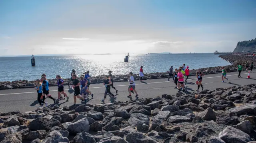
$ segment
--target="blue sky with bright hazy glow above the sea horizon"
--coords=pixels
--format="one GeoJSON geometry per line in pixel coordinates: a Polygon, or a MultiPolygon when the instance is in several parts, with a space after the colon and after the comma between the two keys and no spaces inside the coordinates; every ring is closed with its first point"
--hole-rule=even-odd
{"type": "Polygon", "coordinates": [[[229,52],[255,15],[256,0],[0,0],[0,56],[229,52]]]}

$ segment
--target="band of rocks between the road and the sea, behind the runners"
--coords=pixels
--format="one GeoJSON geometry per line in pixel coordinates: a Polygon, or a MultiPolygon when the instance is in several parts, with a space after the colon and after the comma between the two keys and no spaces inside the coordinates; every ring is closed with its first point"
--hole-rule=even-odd
{"type": "MultiPolygon", "coordinates": [[[[232,63],[233,65],[224,66],[227,71],[236,71],[236,67],[239,63],[242,63],[242,65],[245,65],[245,63],[254,61],[256,63],[256,57],[248,57],[248,56],[239,56],[239,55],[220,55],[220,58],[232,63]]],[[[167,68],[168,69],[168,68],[167,68]]],[[[190,75],[195,75],[197,69],[190,69],[190,75]]],[[[204,72],[204,74],[212,74],[212,73],[220,73],[221,67],[208,67],[208,68],[202,68],[201,71],[204,72]]],[[[156,78],[168,78],[169,74],[166,72],[155,72],[155,73],[149,73],[145,74],[143,77],[143,80],[147,79],[156,79],[156,78]]],[[[114,82],[120,82],[120,81],[127,81],[128,75],[113,75],[114,82]]],[[[134,79],[139,80],[140,77],[138,74],[134,74],[134,79]]],[[[104,80],[104,75],[100,76],[92,76],[90,82],[92,84],[94,83],[102,83],[104,80]]],[[[56,86],[57,85],[57,79],[48,79],[50,86],[56,86]]],[[[69,79],[64,79],[65,84],[68,85],[69,79]]],[[[36,85],[36,81],[28,81],[28,80],[18,80],[18,81],[7,81],[7,82],[0,82],[0,90],[1,89],[15,89],[15,88],[24,88],[24,87],[34,87],[36,85]]]]}

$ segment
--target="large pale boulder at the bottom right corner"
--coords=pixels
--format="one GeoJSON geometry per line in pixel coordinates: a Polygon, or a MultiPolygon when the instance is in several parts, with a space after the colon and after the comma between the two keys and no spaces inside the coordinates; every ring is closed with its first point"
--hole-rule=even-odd
{"type": "Polygon", "coordinates": [[[228,126],[221,131],[219,133],[219,138],[225,141],[225,143],[247,143],[252,141],[250,135],[231,126],[228,126]]]}

